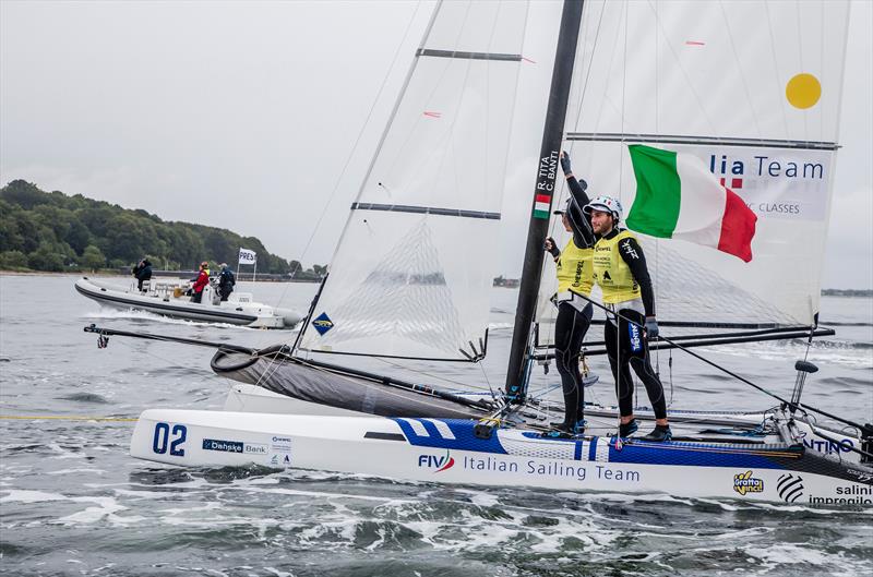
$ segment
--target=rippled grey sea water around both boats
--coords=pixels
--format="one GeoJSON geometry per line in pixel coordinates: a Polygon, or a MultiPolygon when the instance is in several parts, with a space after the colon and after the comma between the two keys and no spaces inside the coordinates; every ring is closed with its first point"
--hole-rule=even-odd
{"type": "MultiPolygon", "coordinates": [[[[129,278],[107,279],[129,286],[129,278]]],[[[0,276],[0,573],[107,576],[870,575],[873,515],[661,494],[585,494],[409,483],[316,471],[176,469],[132,459],[146,408],[220,409],[212,350],[110,337],[86,324],[263,347],[292,332],[105,311],[71,276],[0,276]]],[[[304,312],[315,285],[242,283],[304,312]]],[[[503,385],[517,291],[494,289],[479,365],[368,369],[465,389],[503,385]]],[[[873,300],[823,298],[804,400],[873,421],[873,300]]],[[[594,327],[589,338],[597,337],[594,327]]],[[[666,334],[669,330],[663,329],[666,334]]],[[[699,350],[699,349],[698,349],[699,350]]],[[[801,340],[705,354],[781,396],[801,340]]],[[[656,358],[672,408],[777,402],[679,352],[656,358]],[[672,357],[672,360],[671,360],[672,357]]],[[[589,400],[614,402],[605,360],[589,400]]],[[[560,395],[554,366],[531,390],[560,395]]],[[[639,387],[641,404],[647,404],[639,387]]],[[[726,474],[732,474],[728,472],[726,474]]],[[[689,480],[687,482],[693,482],[689,480]]],[[[679,488],[678,488],[679,490],[679,488]]]]}

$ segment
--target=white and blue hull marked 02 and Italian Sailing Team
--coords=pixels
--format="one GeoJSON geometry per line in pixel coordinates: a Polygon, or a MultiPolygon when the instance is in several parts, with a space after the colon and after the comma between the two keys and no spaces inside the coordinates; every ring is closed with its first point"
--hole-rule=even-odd
{"type": "Polygon", "coordinates": [[[873,506],[869,468],[773,444],[543,438],[473,421],[150,409],[131,455],[184,467],[295,468],[494,486],[873,506]],[[848,471],[848,472],[847,472],[848,471]]]}

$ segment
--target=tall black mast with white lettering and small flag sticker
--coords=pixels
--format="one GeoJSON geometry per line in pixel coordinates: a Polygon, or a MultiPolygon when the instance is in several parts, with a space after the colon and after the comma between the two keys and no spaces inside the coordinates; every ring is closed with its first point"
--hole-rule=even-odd
{"type": "Polygon", "coordinates": [[[561,28],[558,34],[549,106],[546,110],[540,160],[537,167],[537,184],[534,190],[530,223],[527,229],[525,263],[518,291],[518,304],[515,310],[510,363],[506,370],[506,395],[512,402],[522,402],[526,394],[525,359],[530,346],[530,330],[537,306],[537,293],[542,272],[542,242],[549,229],[561,139],[582,23],[582,7],[583,0],[564,0],[561,13],[561,28]]]}

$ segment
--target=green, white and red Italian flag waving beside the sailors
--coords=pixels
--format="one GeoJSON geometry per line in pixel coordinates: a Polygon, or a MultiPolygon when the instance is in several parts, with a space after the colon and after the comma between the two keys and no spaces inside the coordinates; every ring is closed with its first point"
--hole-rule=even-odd
{"type": "Polygon", "coordinates": [[[636,199],[627,228],[752,260],[757,216],[694,155],[633,144],[636,199]]]}

